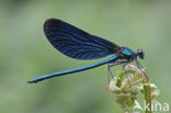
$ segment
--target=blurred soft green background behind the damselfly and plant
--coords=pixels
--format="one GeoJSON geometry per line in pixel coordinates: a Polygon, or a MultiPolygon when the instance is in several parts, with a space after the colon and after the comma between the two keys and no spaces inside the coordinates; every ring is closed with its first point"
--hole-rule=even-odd
{"type": "Polygon", "coordinates": [[[106,66],[26,83],[102,60],[77,60],[57,52],[43,33],[49,18],[134,50],[142,48],[146,57],[140,63],[161,90],[158,100],[171,103],[170,0],[1,0],[0,113],[122,113],[105,89],[106,66]]]}

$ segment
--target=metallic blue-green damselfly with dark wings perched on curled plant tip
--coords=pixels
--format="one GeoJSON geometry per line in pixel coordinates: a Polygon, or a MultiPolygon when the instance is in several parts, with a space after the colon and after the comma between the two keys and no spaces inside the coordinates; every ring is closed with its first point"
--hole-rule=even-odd
{"type": "Polygon", "coordinates": [[[110,41],[91,35],[58,19],[48,19],[44,24],[44,33],[56,49],[71,58],[87,60],[111,57],[93,65],[41,76],[31,79],[27,81],[29,83],[36,83],[48,78],[92,69],[104,64],[109,64],[110,67],[122,64],[125,67],[135,60],[139,67],[137,57],[141,59],[145,57],[141,49],[133,52],[128,47],[118,46],[110,41]]]}

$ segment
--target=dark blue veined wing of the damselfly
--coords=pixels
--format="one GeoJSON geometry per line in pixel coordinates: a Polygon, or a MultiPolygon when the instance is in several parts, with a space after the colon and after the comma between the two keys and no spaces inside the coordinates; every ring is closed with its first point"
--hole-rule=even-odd
{"type": "Polygon", "coordinates": [[[58,19],[47,20],[44,32],[56,49],[76,59],[98,59],[119,49],[114,43],[88,34],[58,19]]]}

